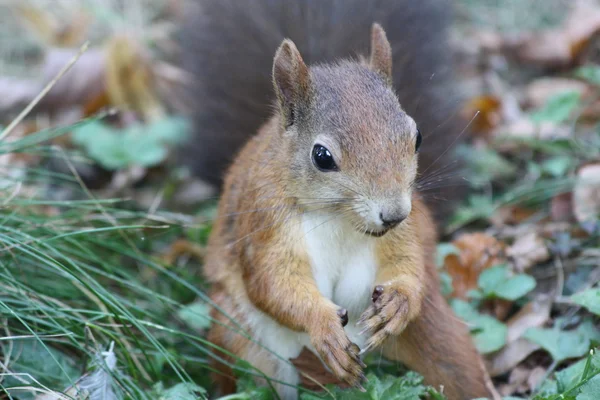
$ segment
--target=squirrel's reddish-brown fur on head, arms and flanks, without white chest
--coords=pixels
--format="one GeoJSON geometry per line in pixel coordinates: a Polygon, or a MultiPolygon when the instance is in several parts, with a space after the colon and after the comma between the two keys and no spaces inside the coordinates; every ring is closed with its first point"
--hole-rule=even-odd
{"type": "MultiPolygon", "coordinates": [[[[351,385],[362,377],[359,349],[346,336],[339,306],[317,288],[301,226],[305,214],[321,207],[363,229],[358,214],[344,203],[306,202],[306,196],[333,198],[332,185],[337,195],[349,196],[338,183],[360,186],[366,196],[378,199],[412,192],[416,128],[383,84],[380,73],[391,69],[385,64],[391,59],[386,61],[385,34],[378,29],[371,56],[377,74],[358,63],[307,74],[295,46],[284,42],[274,67],[280,112],[229,169],[205,265],[214,288],[211,298],[251,335],[251,321],[262,314],[307,333],[332,372],[351,385]],[[315,172],[309,164],[314,132],[324,130],[335,141],[328,145],[343,174],[315,172]]],[[[435,243],[429,211],[415,194],[408,217],[376,242],[375,281],[383,293],[362,317],[369,333],[366,346],[381,346],[386,357],[405,362],[428,383],[444,385],[450,400],[489,397],[487,374],[470,336],[439,293],[435,243]]],[[[267,376],[277,374],[276,358],[236,333],[224,314],[215,311],[213,316],[219,322],[209,335],[213,343],[267,376]]],[[[231,374],[217,364],[222,374],[231,374]]],[[[232,380],[218,379],[224,393],[233,390],[232,380]]]]}

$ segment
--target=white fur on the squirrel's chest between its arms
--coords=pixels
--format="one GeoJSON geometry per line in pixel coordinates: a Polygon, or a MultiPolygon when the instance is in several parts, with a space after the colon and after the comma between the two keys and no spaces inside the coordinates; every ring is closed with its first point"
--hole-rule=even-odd
{"type": "Polygon", "coordinates": [[[351,334],[354,322],[371,302],[376,239],[328,214],[305,215],[303,231],[319,291],[348,310],[346,330],[351,334]]]}

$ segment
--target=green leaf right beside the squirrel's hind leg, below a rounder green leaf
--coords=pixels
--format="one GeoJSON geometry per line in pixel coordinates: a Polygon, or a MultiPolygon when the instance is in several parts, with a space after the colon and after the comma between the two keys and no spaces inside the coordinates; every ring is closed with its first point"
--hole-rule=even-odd
{"type": "Polygon", "coordinates": [[[454,312],[471,326],[471,336],[477,350],[483,354],[500,350],[506,344],[506,325],[496,318],[480,314],[471,304],[454,299],[454,312]]]}

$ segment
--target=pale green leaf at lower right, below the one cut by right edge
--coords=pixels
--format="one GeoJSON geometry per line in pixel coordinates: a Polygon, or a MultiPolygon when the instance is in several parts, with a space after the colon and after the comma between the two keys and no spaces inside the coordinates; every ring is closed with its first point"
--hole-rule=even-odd
{"type": "Polygon", "coordinates": [[[542,346],[554,360],[563,361],[585,355],[591,341],[600,339],[600,332],[590,321],[585,321],[572,331],[529,328],[523,337],[542,346]]]}

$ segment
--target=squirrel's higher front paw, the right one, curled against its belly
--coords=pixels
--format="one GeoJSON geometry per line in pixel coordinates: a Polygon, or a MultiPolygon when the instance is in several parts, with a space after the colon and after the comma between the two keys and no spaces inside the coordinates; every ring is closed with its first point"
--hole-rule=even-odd
{"type": "Polygon", "coordinates": [[[408,297],[398,289],[376,286],[372,300],[357,322],[363,328],[361,334],[369,334],[361,354],[380,346],[389,336],[402,333],[409,321],[408,297]]]}

